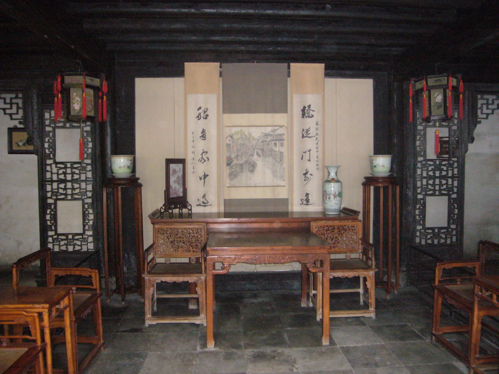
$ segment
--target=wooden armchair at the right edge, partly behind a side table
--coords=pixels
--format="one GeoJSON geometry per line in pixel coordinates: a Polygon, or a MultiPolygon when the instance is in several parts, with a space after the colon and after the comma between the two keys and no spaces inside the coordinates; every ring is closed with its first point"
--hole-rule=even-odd
{"type": "MultiPolygon", "coordinates": [[[[499,355],[481,355],[480,339],[482,326],[499,335],[493,326],[483,322],[485,316],[499,317],[499,309],[495,305],[480,302],[474,305],[474,276],[484,275],[486,258],[496,252],[499,254],[499,244],[481,240],[478,243],[478,260],[444,261],[436,266],[434,299],[433,299],[433,325],[432,341],[438,341],[470,368],[482,364],[499,364],[499,355]],[[454,307],[467,312],[468,323],[442,326],[442,301],[445,299],[454,307]],[[446,339],[444,334],[467,332],[469,347],[468,352],[463,352],[452,341],[446,339]]],[[[472,369],[470,369],[470,373],[472,369]]]]}

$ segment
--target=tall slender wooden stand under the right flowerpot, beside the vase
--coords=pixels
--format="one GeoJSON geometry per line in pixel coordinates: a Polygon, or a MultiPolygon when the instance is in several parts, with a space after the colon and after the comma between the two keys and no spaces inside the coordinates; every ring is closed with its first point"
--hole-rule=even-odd
{"type": "MultiPolygon", "coordinates": [[[[395,177],[364,177],[362,182],[362,237],[373,243],[371,240],[371,187],[379,188],[379,243],[375,244],[375,248],[379,251],[378,269],[379,281],[376,287],[383,287],[387,298],[390,297],[392,289],[397,292],[400,284],[400,191],[399,186],[395,181],[395,177]],[[395,187],[395,195],[393,189],[395,187]],[[388,206],[385,206],[385,188],[388,189],[388,206]],[[395,259],[393,258],[393,204],[395,203],[395,259]],[[385,224],[385,210],[388,213],[387,225],[385,224]],[[384,253],[385,240],[386,253],[384,253]],[[386,282],[384,277],[384,262],[386,259],[386,282]],[[395,260],[395,261],[394,261],[395,260]],[[392,281],[393,262],[395,262],[395,282],[392,281]]],[[[373,235],[374,236],[374,235],[373,235]]]]}

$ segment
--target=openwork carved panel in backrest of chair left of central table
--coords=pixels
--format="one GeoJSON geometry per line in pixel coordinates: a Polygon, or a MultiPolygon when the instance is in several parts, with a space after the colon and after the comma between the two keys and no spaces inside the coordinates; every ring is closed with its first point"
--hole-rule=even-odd
{"type": "Polygon", "coordinates": [[[156,256],[199,256],[206,243],[204,224],[165,225],[155,229],[156,256]]]}

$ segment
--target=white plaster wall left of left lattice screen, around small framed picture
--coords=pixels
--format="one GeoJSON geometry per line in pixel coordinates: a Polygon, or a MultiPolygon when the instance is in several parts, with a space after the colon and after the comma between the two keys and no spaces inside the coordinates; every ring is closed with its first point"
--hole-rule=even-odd
{"type": "Polygon", "coordinates": [[[0,111],[0,268],[40,246],[37,158],[7,154],[7,128],[18,122],[0,111]]]}

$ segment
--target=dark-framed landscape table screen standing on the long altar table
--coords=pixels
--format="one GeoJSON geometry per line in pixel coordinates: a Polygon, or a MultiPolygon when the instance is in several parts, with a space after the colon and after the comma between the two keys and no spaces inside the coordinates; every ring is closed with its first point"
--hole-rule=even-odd
{"type": "Polygon", "coordinates": [[[165,205],[187,207],[186,160],[166,159],[165,205]]]}

